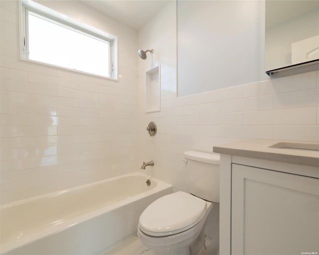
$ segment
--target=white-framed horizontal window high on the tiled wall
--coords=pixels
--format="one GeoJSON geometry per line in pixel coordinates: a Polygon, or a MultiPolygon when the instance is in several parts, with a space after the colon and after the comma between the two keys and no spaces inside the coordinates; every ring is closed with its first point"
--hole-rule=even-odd
{"type": "Polygon", "coordinates": [[[22,58],[117,79],[117,38],[33,1],[22,1],[22,58]]]}

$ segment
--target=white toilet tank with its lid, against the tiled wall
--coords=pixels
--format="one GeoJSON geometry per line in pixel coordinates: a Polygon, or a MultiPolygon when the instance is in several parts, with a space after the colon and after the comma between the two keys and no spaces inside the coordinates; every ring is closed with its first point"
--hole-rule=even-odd
{"type": "Polygon", "coordinates": [[[185,151],[188,192],[202,199],[219,202],[219,162],[217,153],[185,151]]]}

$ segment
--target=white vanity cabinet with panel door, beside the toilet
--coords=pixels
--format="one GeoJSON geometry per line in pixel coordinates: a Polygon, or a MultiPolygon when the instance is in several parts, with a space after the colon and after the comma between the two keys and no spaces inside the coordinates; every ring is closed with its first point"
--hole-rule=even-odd
{"type": "Polygon", "coordinates": [[[249,157],[230,147],[214,147],[221,153],[219,254],[319,255],[317,161],[272,161],[268,149],[261,159],[261,150],[249,157]]]}

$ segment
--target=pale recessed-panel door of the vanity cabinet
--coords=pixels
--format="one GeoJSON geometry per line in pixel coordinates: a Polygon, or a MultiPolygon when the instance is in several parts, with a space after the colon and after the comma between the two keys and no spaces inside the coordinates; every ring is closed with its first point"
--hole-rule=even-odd
{"type": "Polygon", "coordinates": [[[319,255],[319,179],[232,164],[232,255],[319,255]]]}

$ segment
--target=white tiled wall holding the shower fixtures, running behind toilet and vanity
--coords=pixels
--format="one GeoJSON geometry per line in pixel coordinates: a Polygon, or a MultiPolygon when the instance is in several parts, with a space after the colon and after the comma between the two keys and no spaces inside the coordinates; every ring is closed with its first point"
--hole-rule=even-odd
{"type": "MultiPolygon", "coordinates": [[[[212,152],[214,145],[249,138],[319,141],[318,71],[250,84],[234,83],[231,88],[176,98],[176,31],[171,28],[175,25],[174,8],[170,3],[139,30],[138,45],[154,48],[153,64],[163,63],[164,69],[161,111],[145,113],[144,72],[152,66],[152,57],[138,62],[140,162],[155,161],[153,169],[144,170],[146,173],[173,184],[174,191],[187,191],[185,165],[180,160],[184,151],[212,152]],[[158,127],[153,137],[146,131],[150,121],[158,127]]],[[[232,75],[232,70],[228,71],[232,75]]],[[[206,229],[216,250],[218,217],[217,204],[206,229]]]]}

